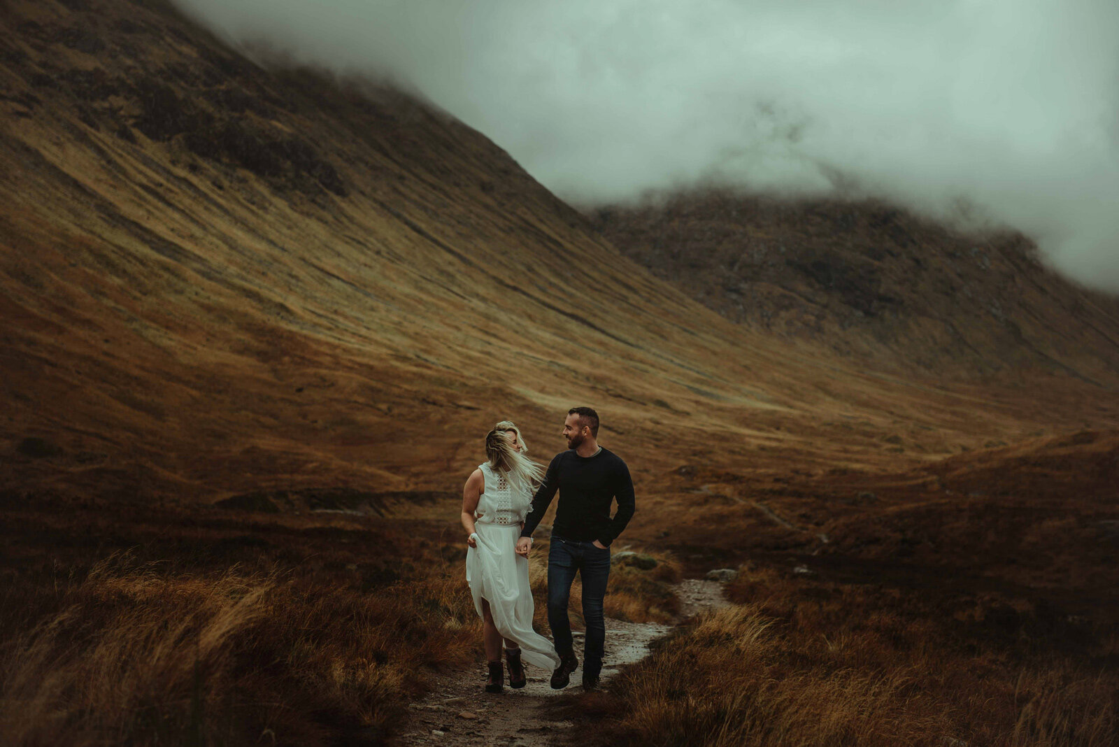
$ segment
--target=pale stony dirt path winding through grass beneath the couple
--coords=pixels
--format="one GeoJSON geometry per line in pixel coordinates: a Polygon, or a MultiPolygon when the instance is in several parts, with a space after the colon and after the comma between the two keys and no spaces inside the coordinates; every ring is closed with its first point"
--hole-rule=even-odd
{"type": "MultiPolygon", "coordinates": [[[[681,603],[681,620],[700,609],[726,604],[722,584],[711,580],[688,579],[677,584],[676,594],[681,603]]],[[[603,658],[602,679],[609,680],[618,668],[631,664],[649,652],[649,642],[671,630],[671,625],[657,623],[626,623],[606,618],[606,651],[603,658]]],[[[582,633],[575,633],[575,649],[582,665],[582,633]]],[[[546,747],[556,745],[570,721],[546,718],[543,706],[548,698],[562,693],[579,693],[582,669],[575,671],[571,684],[564,690],[548,687],[548,675],[542,670],[526,666],[528,684],[521,690],[506,685],[505,692],[490,694],[482,691],[485,668],[479,665],[466,672],[455,672],[436,682],[422,701],[411,705],[412,722],[402,735],[403,745],[508,745],[508,747],[546,747]]]]}

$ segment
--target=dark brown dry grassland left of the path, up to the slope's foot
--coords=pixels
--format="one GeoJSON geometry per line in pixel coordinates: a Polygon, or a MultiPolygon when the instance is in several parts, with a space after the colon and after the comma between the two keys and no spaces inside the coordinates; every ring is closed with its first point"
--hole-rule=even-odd
{"type": "Polygon", "coordinates": [[[0,514],[23,558],[0,568],[0,744],[379,744],[434,671],[480,654],[438,533],[103,512],[134,543],[92,566],[66,557],[82,517],[0,514]]]}

